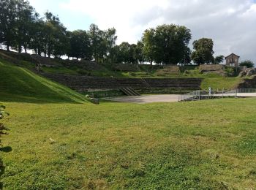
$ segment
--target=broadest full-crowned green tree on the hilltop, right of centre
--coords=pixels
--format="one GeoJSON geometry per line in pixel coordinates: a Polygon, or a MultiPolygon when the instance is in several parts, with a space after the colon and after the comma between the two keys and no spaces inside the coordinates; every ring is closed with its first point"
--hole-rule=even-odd
{"type": "Polygon", "coordinates": [[[185,26],[173,24],[150,28],[143,34],[143,53],[152,63],[178,64],[188,53],[191,31],[185,26]]]}

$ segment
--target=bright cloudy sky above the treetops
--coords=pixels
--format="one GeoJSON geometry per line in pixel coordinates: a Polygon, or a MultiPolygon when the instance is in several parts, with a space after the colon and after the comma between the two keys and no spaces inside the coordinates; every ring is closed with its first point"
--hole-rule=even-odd
{"type": "Polygon", "coordinates": [[[256,63],[256,0],[29,0],[41,15],[59,15],[70,31],[116,28],[118,43],[136,43],[147,28],[187,26],[192,42],[214,40],[215,56],[236,53],[256,63]]]}

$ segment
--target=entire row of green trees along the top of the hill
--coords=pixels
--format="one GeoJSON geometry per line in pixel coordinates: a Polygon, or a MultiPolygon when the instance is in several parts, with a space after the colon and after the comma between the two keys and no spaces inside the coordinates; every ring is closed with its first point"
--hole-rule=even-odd
{"type": "Polygon", "coordinates": [[[0,45],[21,53],[33,50],[39,56],[68,56],[102,63],[219,64],[212,39],[193,42],[189,28],[174,24],[149,28],[137,44],[116,45],[115,28],[101,30],[91,24],[88,31],[68,31],[51,12],[40,16],[26,0],[0,1],[0,45]]]}

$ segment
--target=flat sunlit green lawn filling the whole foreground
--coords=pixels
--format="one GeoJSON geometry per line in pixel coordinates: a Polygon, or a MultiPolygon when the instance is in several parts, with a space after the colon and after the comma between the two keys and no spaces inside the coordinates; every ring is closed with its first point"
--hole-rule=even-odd
{"type": "Polygon", "coordinates": [[[4,104],[6,189],[256,186],[256,99],[4,104]]]}

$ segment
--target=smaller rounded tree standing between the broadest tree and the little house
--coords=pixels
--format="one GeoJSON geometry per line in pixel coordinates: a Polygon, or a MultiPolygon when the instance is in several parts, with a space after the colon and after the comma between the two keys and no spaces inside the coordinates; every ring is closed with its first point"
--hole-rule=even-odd
{"type": "Polygon", "coordinates": [[[195,49],[191,58],[195,64],[210,64],[214,62],[214,41],[208,38],[202,38],[193,42],[195,49]]]}

